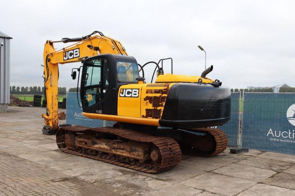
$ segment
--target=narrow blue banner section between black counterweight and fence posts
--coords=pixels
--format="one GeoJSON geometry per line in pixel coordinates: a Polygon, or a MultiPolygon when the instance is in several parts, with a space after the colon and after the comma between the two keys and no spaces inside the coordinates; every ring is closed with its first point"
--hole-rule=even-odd
{"type": "Polygon", "coordinates": [[[239,122],[239,93],[232,93],[230,121],[218,126],[227,136],[228,146],[237,146],[238,122],[239,122]]]}

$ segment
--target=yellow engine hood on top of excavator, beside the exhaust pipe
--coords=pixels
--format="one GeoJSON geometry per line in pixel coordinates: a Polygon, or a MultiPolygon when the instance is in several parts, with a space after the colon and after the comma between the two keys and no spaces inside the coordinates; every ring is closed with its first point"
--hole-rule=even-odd
{"type": "MultiPolygon", "coordinates": [[[[164,74],[159,75],[156,82],[198,82],[200,76],[185,76],[177,74],[164,74]]],[[[203,83],[211,83],[214,80],[209,78],[201,78],[203,83]]]]}

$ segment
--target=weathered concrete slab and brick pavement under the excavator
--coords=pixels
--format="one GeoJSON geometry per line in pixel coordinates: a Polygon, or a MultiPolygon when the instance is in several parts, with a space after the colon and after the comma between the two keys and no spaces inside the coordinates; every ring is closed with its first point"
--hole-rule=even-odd
{"type": "Polygon", "coordinates": [[[0,113],[0,195],[295,195],[294,155],[227,149],[145,174],[61,152],[55,135],[42,135],[44,110],[0,113]]]}

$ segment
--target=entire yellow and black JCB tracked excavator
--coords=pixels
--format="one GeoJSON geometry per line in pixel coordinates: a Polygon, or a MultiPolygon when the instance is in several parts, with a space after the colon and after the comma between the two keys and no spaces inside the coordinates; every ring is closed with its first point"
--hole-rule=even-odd
{"type": "Polygon", "coordinates": [[[140,65],[120,41],[100,31],[47,40],[43,133],[56,134],[65,153],[152,174],[176,167],[181,153],[210,157],[223,152],[227,137],[214,127],[230,120],[230,89],[206,77],[213,66],[201,76],[178,75],[173,74],[172,58],[167,59],[171,74],[164,74],[166,59],[140,65]],[[74,43],[56,50],[56,42],[74,43]],[[82,62],[71,74],[72,79],[78,75],[82,114],[115,121],[113,127],[58,126],[58,64],[72,62],[82,62]],[[155,66],[155,82],[146,83],[146,65],[155,66]]]}

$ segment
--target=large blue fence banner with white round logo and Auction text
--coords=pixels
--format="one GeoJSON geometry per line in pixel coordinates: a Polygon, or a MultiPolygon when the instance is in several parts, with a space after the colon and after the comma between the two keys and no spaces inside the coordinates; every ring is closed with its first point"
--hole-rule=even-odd
{"type": "Polygon", "coordinates": [[[245,93],[242,147],[295,154],[295,94],[245,93]]]}

